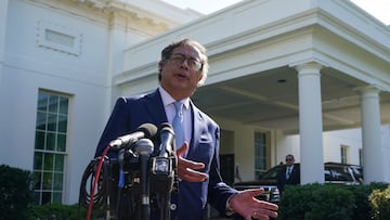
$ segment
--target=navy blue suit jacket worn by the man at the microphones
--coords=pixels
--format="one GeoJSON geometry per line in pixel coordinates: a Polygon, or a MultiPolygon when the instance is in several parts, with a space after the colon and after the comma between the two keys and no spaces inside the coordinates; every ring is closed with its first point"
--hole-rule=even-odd
{"type": "MultiPolygon", "coordinates": [[[[206,220],[207,203],[224,213],[227,198],[237,191],[223,183],[220,176],[219,126],[192,102],[191,111],[193,132],[186,158],[204,163],[206,167],[200,171],[208,173],[209,178],[204,182],[179,182],[179,194],[171,198],[171,203],[177,204],[178,208],[171,211],[171,219],[206,220]]],[[[135,131],[145,122],[157,127],[168,122],[158,90],[146,95],[117,100],[95,156],[100,156],[112,140],[135,131]]]]}

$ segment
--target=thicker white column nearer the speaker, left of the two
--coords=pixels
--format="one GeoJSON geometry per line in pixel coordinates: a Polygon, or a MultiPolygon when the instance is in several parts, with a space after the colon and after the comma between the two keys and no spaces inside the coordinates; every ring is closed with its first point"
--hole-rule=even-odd
{"type": "Polygon", "coordinates": [[[325,182],[321,68],[322,65],[315,62],[296,66],[299,83],[301,184],[325,182]]]}

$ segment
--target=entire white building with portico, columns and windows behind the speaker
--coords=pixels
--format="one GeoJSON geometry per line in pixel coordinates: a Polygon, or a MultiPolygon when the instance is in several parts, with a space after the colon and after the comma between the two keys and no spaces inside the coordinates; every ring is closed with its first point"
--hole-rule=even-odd
{"type": "Polygon", "coordinates": [[[5,0],[0,17],[0,163],[34,170],[37,203],[77,203],[116,98],[154,90],[161,49],[184,37],[208,49],[193,100],[243,180],[292,153],[303,183],[324,181],[324,161],[390,182],[390,30],[349,1],[202,16],[152,0],[5,0]]]}

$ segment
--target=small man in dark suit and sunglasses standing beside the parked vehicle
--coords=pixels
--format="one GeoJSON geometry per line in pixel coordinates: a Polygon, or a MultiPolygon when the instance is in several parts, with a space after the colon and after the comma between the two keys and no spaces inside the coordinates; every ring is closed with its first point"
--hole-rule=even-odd
{"type": "Polygon", "coordinates": [[[295,159],[291,154],[286,156],[286,166],[277,172],[277,189],[283,193],[285,185],[296,185],[300,183],[300,170],[294,166],[295,159]]]}

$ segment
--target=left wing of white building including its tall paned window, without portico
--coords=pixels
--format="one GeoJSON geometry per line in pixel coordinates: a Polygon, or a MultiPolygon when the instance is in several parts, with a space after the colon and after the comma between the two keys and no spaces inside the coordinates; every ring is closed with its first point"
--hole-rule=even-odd
{"type": "Polygon", "coordinates": [[[37,203],[77,203],[123,49],[198,14],[144,0],[6,0],[0,9],[0,163],[35,170],[37,203]]]}

